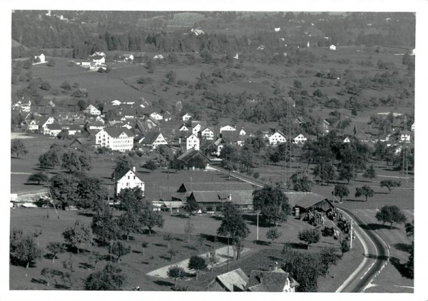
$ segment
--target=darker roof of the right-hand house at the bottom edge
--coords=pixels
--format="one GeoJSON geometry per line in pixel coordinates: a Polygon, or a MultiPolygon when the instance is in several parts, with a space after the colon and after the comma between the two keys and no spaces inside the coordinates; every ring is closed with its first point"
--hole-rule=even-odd
{"type": "Polygon", "coordinates": [[[282,269],[274,271],[251,271],[245,290],[252,292],[282,292],[289,274],[282,269]]]}

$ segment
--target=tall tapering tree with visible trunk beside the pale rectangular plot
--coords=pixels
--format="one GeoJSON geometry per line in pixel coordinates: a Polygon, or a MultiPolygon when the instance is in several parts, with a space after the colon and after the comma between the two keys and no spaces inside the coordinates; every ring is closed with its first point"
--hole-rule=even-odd
{"type": "Polygon", "coordinates": [[[225,203],[222,211],[225,217],[217,229],[217,234],[232,239],[232,243],[237,250],[236,259],[238,260],[240,251],[242,250],[242,240],[247,238],[250,229],[248,229],[243,216],[238,213],[238,210],[232,203],[225,203]]]}

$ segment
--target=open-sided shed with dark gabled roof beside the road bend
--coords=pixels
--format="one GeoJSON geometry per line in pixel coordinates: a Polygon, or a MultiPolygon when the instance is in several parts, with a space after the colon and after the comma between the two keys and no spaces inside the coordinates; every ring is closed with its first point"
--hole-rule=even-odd
{"type": "Polygon", "coordinates": [[[327,211],[331,208],[335,208],[330,200],[316,193],[287,192],[285,195],[288,198],[290,206],[294,208],[294,210],[299,208],[300,213],[305,213],[309,209],[327,211]]]}

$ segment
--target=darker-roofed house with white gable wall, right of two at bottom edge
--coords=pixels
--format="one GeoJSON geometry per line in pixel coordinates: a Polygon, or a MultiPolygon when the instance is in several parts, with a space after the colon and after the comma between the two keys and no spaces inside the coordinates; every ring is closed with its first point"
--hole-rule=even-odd
{"type": "Polygon", "coordinates": [[[291,277],[290,273],[275,267],[272,270],[251,271],[245,291],[250,292],[295,292],[299,283],[291,277]]]}

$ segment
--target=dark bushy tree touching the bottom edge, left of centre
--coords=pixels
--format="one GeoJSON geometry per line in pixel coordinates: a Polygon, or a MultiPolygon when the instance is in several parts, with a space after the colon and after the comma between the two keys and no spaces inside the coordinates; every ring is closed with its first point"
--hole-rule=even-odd
{"type": "Polygon", "coordinates": [[[108,263],[103,270],[93,272],[85,280],[85,290],[121,290],[126,285],[126,275],[115,263],[108,263]]]}

